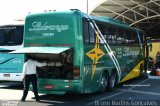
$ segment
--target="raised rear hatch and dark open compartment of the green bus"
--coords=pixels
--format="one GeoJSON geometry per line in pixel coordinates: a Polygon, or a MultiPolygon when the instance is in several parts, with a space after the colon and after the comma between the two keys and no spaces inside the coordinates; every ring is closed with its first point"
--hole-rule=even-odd
{"type": "Polygon", "coordinates": [[[79,79],[79,67],[73,67],[71,47],[26,47],[10,53],[23,53],[34,60],[50,63],[48,66],[37,68],[39,78],[79,79]]]}

